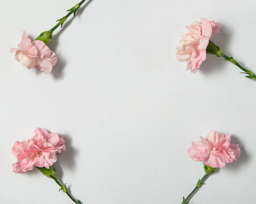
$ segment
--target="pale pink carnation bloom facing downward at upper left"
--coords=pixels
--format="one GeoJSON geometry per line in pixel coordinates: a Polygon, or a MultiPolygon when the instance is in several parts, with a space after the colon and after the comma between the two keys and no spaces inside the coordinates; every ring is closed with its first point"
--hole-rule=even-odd
{"type": "Polygon", "coordinates": [[[52,66],[57,63],[56,54],[43,41],[32,41],[25,31],[22,33],[18,48],[11,48],[10,52],[15,52],[14,58],[22,62],[27,69],[36,67],[47,74],[51,73],[52,66]]]}

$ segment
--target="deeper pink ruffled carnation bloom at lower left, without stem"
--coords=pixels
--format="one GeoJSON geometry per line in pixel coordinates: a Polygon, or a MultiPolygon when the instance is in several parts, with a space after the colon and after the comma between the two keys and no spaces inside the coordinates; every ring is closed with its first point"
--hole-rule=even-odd
{"type": "Polygon", "coordinates": [[[56,154],[65,150],[64,139],[57,133],[49,134],[47,130],[36,128],[35,136],[28,141],[14,143],[12,152],[17,158],[13,164],[14,173],[24,173],[36,167],[49,168],[56,162],[56,154]]]}

